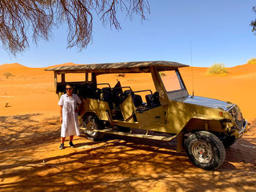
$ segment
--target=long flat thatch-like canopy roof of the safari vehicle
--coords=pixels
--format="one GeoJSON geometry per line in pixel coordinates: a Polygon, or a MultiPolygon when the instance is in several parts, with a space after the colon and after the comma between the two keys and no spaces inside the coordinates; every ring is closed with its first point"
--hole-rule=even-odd
{"type": "Polygon", "coordinates": [[[171,61],[135,61],[125,63],[109,63],[109,64],[86,64],[75,66],[56,66],[45,71],[54,71],[57,74],[61,73],[76,73],[76,72],[93,72],[97,74],[105,73],[141,73],[149,72],[151,66],[160,67],[160,71],[168,71],[184,67],[188,65],[179,64],[171,61]]]}

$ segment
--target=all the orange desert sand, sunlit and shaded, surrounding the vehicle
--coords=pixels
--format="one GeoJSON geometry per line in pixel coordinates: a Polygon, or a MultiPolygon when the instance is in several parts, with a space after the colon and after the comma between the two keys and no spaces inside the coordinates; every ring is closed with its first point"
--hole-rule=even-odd
{"type": "MultiPolygon", "coordinates": [[[[176,153],[175,140],[75,137],[75,148],[59,150],[53,73],[1,65],[0,191],[256,191],[256,66],[229,68],[222,77],[207,76],[206,70],[193,68],[195,95],[232,101],[251,123],[214,172],[176,153]],[[4,72],[15,76],[7,79],[4,72]]],[[[191,68],[181,74],[192,93],[191,68]]],[[[129,75],[118,78],[136,86],[129,75]]]]}

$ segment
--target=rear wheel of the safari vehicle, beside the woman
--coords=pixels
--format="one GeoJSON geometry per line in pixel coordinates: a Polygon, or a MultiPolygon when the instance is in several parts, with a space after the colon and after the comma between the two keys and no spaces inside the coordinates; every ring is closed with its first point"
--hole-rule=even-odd
{"type": "Polygon", "coordinates": [[[101,130],[104,128],[103,123],[95,116],[86,116],[83,118],[83,128],[88,128],[83,131],[87,139],[99,141],[104,137],[104,133],[90,131],[90,129],[101,130]]]}

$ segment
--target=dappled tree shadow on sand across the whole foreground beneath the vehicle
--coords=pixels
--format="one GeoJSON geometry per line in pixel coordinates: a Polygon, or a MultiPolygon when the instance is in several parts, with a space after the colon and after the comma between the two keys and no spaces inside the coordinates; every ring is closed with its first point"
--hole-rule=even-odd
{"type": "MultiPolygon", "coordinates": [[[[31,150],[31,147],[37,153],[40,145],[38,139],[48,139],[49,143],[59,139],[58,119],[31,122],[32,116],[28,117],[18,118],[17,122],[21,120],[24,123],[19,129],[21,132],[15,133],[19,135],[12,134],[12,137],[20,143],[24,142],[26,139],[20,139],[20,136],[23,136],[26,122],[29,122],[27,126],[34,123],[33,128],[25,130],[25,133],[33,133],[29,135],[30,139],[35,137],[32,139],[33,146],[23,143],[24,149],[18,155],[29,155],[26,151],[28,148],[31,150]]],[[[5,119],[11,123],[11,130],[18,127],[12,119],[5,119]]],[[[255,128],[255,123],[252,123],[252,127],[255,128]]],[[[1,142],[7,143],[7,139],[1,142]]],[[[2,143],[0,145],[3,146],[2,143]]],[[[247,150],[241,150],[243,145],[255,147],[250,138],[240,139],[228,148],[225,163],[214,172],[198,169],[185,153],[176,153],[176,140],[159,142],[108,137],[103,142],[79,139],[75,145],[75,149],[67,149],[70,153],[61,150],[63,154],[56,149],[51,157],[42,155],[36,160],[14,159],[12,164],[3,162],[8,155],[18,152],[18,145],[0,150],[3,157],[0,164],[0,191],[178,191],[178,188],[183,191],[256,191],[256,168],[252,160],[255,156],[241,161],[248,153],[247,150]],[[240,153],[237,153],[237,149],[240,149],[240,153]],[[239,164],[241,168],[233,164],[239,164]],[[13,179],[15,177],[18,179],[13,179]]]]}

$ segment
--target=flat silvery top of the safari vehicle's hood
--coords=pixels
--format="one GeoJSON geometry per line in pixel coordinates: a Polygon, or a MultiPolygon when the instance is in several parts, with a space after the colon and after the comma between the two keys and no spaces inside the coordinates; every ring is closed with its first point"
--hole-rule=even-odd
{"type": "Polygon", "coordinates": [[[187,99],[182,99],[184,103],[197,104],[204,107],[211,107],[216,109],[227,110],[233,104],[227,101],[220,101],[217,99],[210,99],[201,96],[188,96],[187,99]]]}

